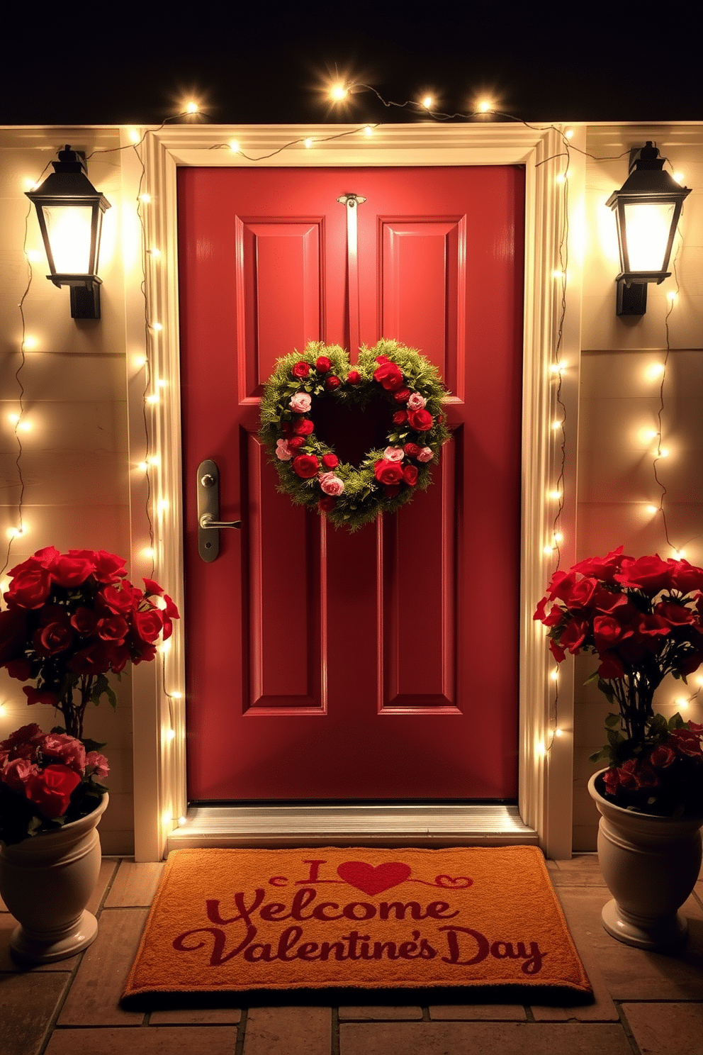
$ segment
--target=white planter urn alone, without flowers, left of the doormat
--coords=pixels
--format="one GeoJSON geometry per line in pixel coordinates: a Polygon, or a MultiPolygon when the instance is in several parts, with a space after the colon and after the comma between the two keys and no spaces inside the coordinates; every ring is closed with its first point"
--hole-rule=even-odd
{"type": "Polygon", "coordinates": [[[0,845],[0,895],[19,921],[11,948],[22,960],[51,963],[95,940],[98,922],[85,910],[100,871],[97,825],[109,795],[78,821],[13,846],[0,845]]]}

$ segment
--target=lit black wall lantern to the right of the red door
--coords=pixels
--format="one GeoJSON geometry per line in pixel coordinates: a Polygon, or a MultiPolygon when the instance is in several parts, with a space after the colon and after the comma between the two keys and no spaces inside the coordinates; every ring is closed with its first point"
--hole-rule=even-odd
{"type": "Polygon", "coordinates": [[[630,151],[629,175],[606,205],[616,213],[620,246],[618,314],[643,315],[647,283],[658,285],[667,271],[681,206],[690,190],[664,172],[665,157],[652,142],[630,151]]]}

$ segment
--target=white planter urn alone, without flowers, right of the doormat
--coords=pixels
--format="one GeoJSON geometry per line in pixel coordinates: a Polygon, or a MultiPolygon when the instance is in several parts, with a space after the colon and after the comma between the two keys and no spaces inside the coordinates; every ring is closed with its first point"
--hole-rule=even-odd
{"type": "Polygon", "coordinates": [[[688,933],[678,909],[699,876],[703,817],[672,820],[616,806],[595,788],[604,772],[588,782],[601,813],[599,864],[613,896],[603,907],[603,926],[627,945],[670,948],[688,933]]]}

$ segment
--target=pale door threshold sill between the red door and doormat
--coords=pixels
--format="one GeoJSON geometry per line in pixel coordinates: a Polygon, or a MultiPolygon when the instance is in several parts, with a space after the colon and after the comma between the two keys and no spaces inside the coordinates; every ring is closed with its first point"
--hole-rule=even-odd
{"type": "Polygon", "coordinates": [[[512,846],[539,844],[516,806],[192,806],[168,838],[188,847],[512,846]]]}

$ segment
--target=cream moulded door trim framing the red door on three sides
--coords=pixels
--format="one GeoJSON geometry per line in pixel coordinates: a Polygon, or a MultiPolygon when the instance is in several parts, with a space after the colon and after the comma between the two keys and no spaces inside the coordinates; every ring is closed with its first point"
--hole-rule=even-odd
{"type": "MultiPolygon", "coordinates": [[[[532,620],[532,612],[555,567],[554,555],[544,552],[552,537],[555,514],[554,503],[546,495],[555,486],[560,473],[563,509],[559,529],[564,535],[560,567],[568,568],[575,560],[585,127],[388,124],[368,137],[363,127],[350,124],[176,126],[147,133],[138,149],[132,148],[126,130],[121,134],[125,148],[122,229],[130,464],[138,465],[145,455],[156,459],[148,476],[136,468],[130,474],[132,571],[167,582],[181,611],[178,166],[525,166],[519,811],[522,823],[536,832],[548,857],[570,857],[573,672],[572,666],[561,669],[556,701],[555,683],[550,677],[553,660],[544,628],[532,620]],[[566,167],[561,133],[572,127],[570,142],[575,150],[568,158],[565,184],[556,180],[566,167]],[[312,151],[302,146],[287,147],[308,136],[335,138],[312,151]],[[247,154],[260,160],[233,154],[227,146],[231,138],[246,143],[247,154]],[[270,156],[263,157],[266,154],[270,156]],[[137,202],[143,193],[151,195],[148,204],[137,202]],[[568,263],[563,243],[567,220],[568,263]],[[147,252],[152,247],[160,250],[159,256],[147,252]],[[565,270],[567,279],[563,281],[565,270]],[[162,329],[155,329],[154,323],[162,329]],[[556,402],[560,376],[550,370],[560,330],[559,358],[567,363],[561,375],[562,406],[556,402]],[[139,363],[144,354],[149,366],[139,363]],[[157,401],[148,402],[148,396],[156,396],[157,401]],[[562,417],[568,421],[564,444],[561,429],[551,427],[562,417]],[[150,548],[153,558],[145,553],[150,548]],[[559,737],[553,735],[555,723],[562,732],[559,737]]],[[[162,663],[141,664],[132,675],[137,861],[159,860],[187,811],[184,706],[177,695],[183,686],[183,631],[177,624],[162,663]]],[[[437,807],[435,820],[440,828],[445,825],[442,807],[437,807]]]]}

